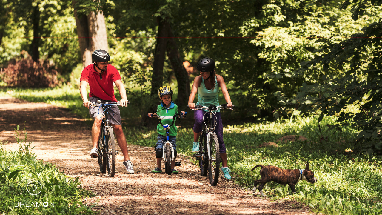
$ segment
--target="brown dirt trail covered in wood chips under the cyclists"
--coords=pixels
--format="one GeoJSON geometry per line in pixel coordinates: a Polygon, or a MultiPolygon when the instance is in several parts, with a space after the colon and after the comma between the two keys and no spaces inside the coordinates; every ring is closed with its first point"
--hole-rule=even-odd
{"type": "Polygon", "coordinates": [[[97,195],[84,202],[97,203],[95,209],[100,214],[309,213],[308,207],[299,207],[296,202],[270,202],[251,195],[231,180],[220,178],[218,185],[212,187],[207,178],[200,176],[199,168],[184,156],[177,159],[182,161],[177,167],[180,174],[153,174],[150,171],[155,168],[155,153],[148,147],[128,145],[135,174],[126,172],[123,156],[118,153],[115,178],[109,178],[107,173],[99,173],[97,160],[89,156],[89,123],[63,108],[0,97],[0,141],[9,142],[5,145],[7,150],[17,148],[14,128],[23,121],[37,157],[57,164],[71,177],[78,176],[82,186],[97,195]]]}

